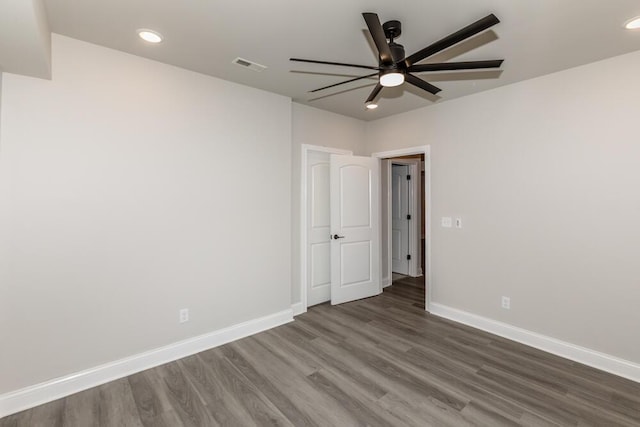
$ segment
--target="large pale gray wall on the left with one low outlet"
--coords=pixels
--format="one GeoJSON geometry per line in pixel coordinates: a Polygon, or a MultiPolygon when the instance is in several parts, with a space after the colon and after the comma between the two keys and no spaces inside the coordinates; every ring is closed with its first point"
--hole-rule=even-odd
{"type": "Polygon", "coordinates": [[[3,79],[0,394],[289,310],[290,100],[53,48],[3,79]]]}

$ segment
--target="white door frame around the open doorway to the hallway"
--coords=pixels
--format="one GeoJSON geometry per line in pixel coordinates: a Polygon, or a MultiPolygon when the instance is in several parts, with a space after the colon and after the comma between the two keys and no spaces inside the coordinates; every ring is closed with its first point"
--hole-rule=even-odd
{"type": "MultiPolygon", "coordinates": [[[[378,153],[371,154],[371,157],[377,157],[379,159],[391,159],[393,157],[400,156],[410,156],[413,154],[424,154],[424,200],[427,205],[422,206],[424,209],[424,229],[425,229],[425,247],[422,248],[425,254],[425,269],[427,271],[423,272],[425,276],[425,310],[431,311],[430,301],[431,301],[431,289],[433,288],[431,282],[431,146],[429,145],[421,145],[417,147],[409,147],[402,148],[399,150],[391,150],[391,151],[381,151],[378,153]]],[[[382,176],[382,174],[380,174],[382,176]]],[[[381,186],[382,188],[382,186],[381,186]]],[[[390,230],[389,230],[390,231],[390,230]]],[[[387,236],[387,242],[389,242],[389,236],[387,236]]],[[[388,260],[389,264],[391,264],[391,257],[388,260]]],[[[389,265],[389,275],[391,275],[391,265],[389,265]]],[[[382,285],[382,282],[381,282],[382,285]]]]}

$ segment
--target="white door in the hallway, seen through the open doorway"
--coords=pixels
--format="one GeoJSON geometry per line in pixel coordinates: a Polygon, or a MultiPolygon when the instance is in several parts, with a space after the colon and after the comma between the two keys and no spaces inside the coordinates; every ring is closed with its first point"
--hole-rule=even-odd
{"type": "Polygon", "coordinates": [[[391,170],[391,270],[409,274],[409,166],[391,170]]]}

